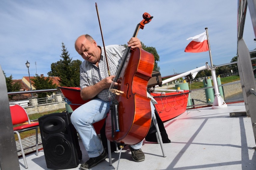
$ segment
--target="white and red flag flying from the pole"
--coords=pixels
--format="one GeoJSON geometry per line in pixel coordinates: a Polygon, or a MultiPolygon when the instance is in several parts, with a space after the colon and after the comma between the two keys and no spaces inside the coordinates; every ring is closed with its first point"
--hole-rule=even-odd
{"type": "Polygon", "coordinates": [[[203,32],[202,34],[196,35],[194,37],[190,37],[187,40],[190,40],[190,39],[192,39],[192,41],[185,48],[185,52],[200,53],[200,52],[205,52],[209,50],[206,31],[203,32]]]}

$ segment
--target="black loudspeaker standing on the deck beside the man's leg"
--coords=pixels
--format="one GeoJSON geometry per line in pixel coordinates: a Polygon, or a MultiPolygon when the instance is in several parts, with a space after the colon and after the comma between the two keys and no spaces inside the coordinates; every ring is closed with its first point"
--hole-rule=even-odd
{"type": "Polygon", "coordinates": [[[44,157],[48,169],[69,169],[79,165],[82,152],[70,113],[52,113],[38,118],[44,157]]]}

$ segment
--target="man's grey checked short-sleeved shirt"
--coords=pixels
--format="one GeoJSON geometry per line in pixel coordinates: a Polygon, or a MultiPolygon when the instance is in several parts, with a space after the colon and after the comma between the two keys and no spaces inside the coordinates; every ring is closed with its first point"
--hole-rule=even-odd
{"type": "MultiPolygon", "coordinates": [[[[100,47],[100,46],[99,46],[100,47]]],[[[108,68],[106,63],[106,57],[104,53],[104,48],[101,48],[101,59],[99,60],[98,67],[93,63],[86,60],[80,65],[80,88],[83,89],[87,86],[93,86],[102,79],[108,77],[108,68]]],[[[123,54],[125,53],[125,47],[121,45],[108,45],[106,48],[106,54],[108,57],[108,66],[110,70],[110,75],[114,75],[116,70],[122,60],[123,54]]],[[[111,93],[112,97],[115,96],[111,93]]],[[[109,91],[104,89],[96,95],[97,98],[109,101],[109,91]]]]}

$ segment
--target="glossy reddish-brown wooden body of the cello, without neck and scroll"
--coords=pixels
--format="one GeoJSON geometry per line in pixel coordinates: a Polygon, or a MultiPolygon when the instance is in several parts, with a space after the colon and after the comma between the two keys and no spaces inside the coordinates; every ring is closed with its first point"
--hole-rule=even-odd
{"type": "Polygon", "coordinates": [[[154,56],[140,48],[130,51],[131,56],[123,74],[119,89],[123,95],[117,95],[119,103],[120,131],[114,130],[112,138],[111,114],[106,120],[106,137],[110,141],[126,145],[141,142],[148,133],[151,124],[150,98],[147,97],[147,84],[154,68],[154,56]]]}

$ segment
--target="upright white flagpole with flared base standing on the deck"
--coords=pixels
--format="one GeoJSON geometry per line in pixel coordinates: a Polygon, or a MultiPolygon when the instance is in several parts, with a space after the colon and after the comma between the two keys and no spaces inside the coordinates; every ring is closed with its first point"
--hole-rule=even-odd
{"type": "Polygon", "coordinates": [[[220,93],[219,93],[216,72],[215,72],[216,67],[214,67],[212,63],[212,54],[211,54],[211,48],[210,48],[210,42],[209,42],[208,28],[206,27],[205,30],[206,30],[207,44],[209,48],[209,55],[210,55],[210,61],[211,61],[211,67],[212,67],[210,68],[210,70],[212,72],[212,81],[213,81],[213,86],[215,91],[215,94],[214,94],[215,97],[212,104],[212,109],[227,107],[227,104],[225,103],[225,101],[223,100],[223,98],[220,96],[220,93]]]}

